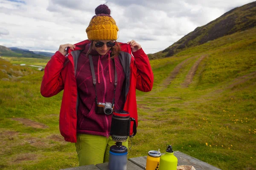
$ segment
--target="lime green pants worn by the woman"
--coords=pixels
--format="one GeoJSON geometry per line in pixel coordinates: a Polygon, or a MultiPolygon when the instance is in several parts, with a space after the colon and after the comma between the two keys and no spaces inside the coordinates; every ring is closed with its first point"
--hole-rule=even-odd
{"type": "MultiPolygon", "coordinates": [[[[108,138],[99,135],[77,134],[76,152],[79,166],[100,164],[108,161],[109,148],[115,145],[111,136],[108,138]]],[[[122,145],[128,148],[128,141],[122,145]]]]}

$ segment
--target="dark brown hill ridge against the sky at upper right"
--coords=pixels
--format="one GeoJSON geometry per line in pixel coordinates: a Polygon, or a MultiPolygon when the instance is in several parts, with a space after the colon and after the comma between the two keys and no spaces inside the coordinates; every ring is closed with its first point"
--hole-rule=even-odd
{"type": "Polygon", "coordinates": [[[256,26],[256,2],[234,8],[205,26],[195,28],[168,48],[155,54],[148,54],[150,59],[171,57],[189,47],[204,44],[225,35],[244,31],[256,26]]]}

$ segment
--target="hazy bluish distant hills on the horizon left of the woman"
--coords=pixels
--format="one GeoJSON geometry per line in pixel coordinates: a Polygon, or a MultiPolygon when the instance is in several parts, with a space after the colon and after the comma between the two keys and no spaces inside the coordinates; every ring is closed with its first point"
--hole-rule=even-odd
{"type": "MultiPolygon", "coordinates": [[[[44,53],[44,52],[43,52],[44,53]]],[[[29,51],[22,48],[11,47],[7,48],[5,46],[0,45],[0,55],[6,57],[26,57],[26,58],[49,58],[48,55],[42,55],[43,53],[36,54],[33,51],[29,51]]]]}

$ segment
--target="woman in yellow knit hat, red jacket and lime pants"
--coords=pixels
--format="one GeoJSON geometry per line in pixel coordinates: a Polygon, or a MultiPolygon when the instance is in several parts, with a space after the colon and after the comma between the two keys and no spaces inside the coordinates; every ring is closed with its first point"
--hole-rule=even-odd
{"type": "Polygon", "coordinates": [[[141,46],[134,40],[115,41],[118,27],[108,6],[98,6],[95,13],[86,29],[88,40],[60,45],[44,69],[41,84],[45,97],[64,90],[60,132],[66,141],[76,143],[79,166],[108,161],[114,144],[109,134],[112,114],[100,109],[102,105],[128,111],[137,123],[136,89],[147,92],[153,86],[148,56],[141,46]]]}

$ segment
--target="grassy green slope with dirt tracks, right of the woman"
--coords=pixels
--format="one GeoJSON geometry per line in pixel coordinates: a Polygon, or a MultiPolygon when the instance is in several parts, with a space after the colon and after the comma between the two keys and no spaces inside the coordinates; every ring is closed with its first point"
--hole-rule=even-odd
{"type": "Polygon", "coordinates": [[[137,93],[140,147],[132,153],[172,144],[222,170],[255,169],[255,49],[252,28],[151,60],[154,86],[137,93]]]}

